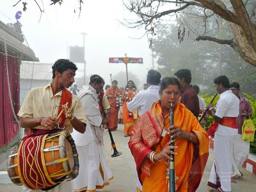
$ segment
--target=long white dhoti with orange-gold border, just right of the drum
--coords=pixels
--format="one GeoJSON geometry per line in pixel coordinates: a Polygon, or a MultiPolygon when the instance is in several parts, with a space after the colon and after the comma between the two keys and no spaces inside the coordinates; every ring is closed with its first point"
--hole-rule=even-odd
{"type": "Polygon", "coordinates": [[[79,175],[74,179],[75,191],[101,189],[113,179],[104,157],[103,146],[92,141],[85,146],[77,146],[79,154],[79,175]]]}

